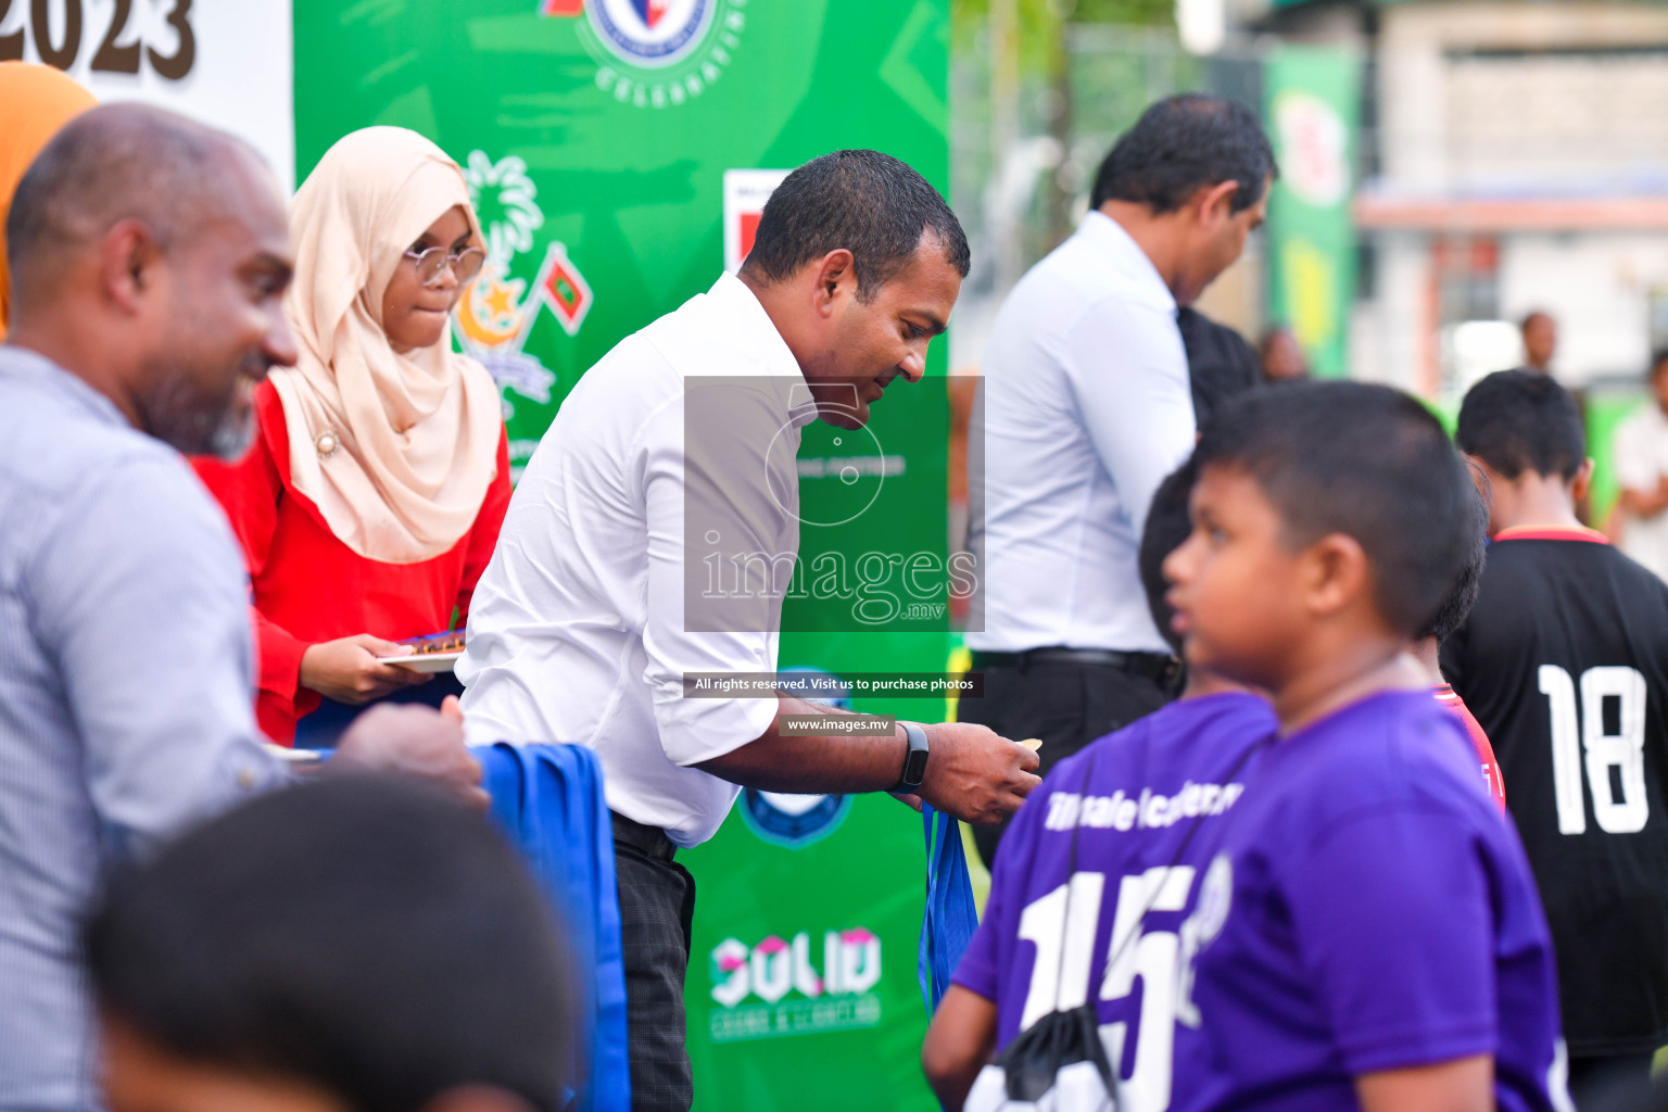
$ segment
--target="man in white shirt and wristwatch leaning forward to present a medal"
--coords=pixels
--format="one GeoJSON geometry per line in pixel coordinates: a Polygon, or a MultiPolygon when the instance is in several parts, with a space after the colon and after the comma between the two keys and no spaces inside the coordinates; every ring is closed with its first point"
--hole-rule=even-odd
{"type": "Polygon", "coordinates": [[[961,225],[914,170],[867,150],[806,163],[766,205],[739,277],[574,387],[475,589],[457,664],[469,735],[577,742],[602,762],[637,1110],[692,1100],[696,892],[674,852],[712,837],[741,785],[894,790],[994,822],[1037,784],[1036,755],[986,727],[791,735],[782,715],[836,712],[769,679],[764,697],[719,699],[686,680],[776,672],[799,430],[862,427],[892,380],[917,382],[966,273],[961,225]]]}

